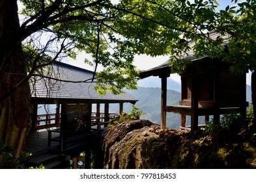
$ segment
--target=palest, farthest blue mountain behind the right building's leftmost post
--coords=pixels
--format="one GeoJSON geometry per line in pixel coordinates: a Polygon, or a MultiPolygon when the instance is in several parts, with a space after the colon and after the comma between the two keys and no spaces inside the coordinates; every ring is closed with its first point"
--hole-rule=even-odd
{"type": "MultiPolygon", "coordinates": [[[[147,77],[138,81],[137,85],[146,88],[161,88],[161,79],[159,77],[147,77]]],[[[177,81],[167,78],[167,89],[180,92],[181,85],[177,81]]]]}

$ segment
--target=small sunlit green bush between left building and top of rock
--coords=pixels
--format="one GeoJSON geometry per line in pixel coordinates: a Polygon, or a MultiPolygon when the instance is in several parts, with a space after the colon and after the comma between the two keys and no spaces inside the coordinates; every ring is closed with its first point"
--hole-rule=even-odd
{"type": "Polygon", "coordinates": [[[114,120],[112,123],[109,123],[109,127],[112,127],[114,125],[118,125],[119,123],[122,122],[130,122],[131,120],[139,120],[139,116],[145,114],[145,112],[139,110],[139,108],[135,107],[132,105],[132,110],[130,113],[124,113],[119,115],[119,118],[117,120],[114,120]]]}

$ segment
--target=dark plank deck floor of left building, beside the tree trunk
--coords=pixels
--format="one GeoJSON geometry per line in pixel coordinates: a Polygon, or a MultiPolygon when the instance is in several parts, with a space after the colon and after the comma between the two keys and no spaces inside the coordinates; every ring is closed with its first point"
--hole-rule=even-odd
{"type": "MultiPolygon", "coordinates": [[[[59,133],[54,133],[56,136],[59,133]]],[[[51,145],[54,146],[58,144],[58,142],[51,142],[51,145]]],[[[24,151],[35,153],[36,151],[40,151],[42,149],[46,149],[48,146],[48,131],[46,129],[41,129],[38,131],[33,131],[27,135],[27,140],[25,143],[24,151]]]]}

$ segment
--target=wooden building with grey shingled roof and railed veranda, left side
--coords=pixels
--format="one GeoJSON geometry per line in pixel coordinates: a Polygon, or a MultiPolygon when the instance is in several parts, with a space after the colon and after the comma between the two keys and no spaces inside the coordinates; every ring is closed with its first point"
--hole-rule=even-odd
{"type": "MultiPolygon", "coordinates": [[[[96,152],[101,157],[102,132],[111,118],[122,112],[124,103],[135,104],[137,99],[128,93],[113,95],[107,92],[100,96],[94,90],[93,75],[94,72],[89,70],[55,62],[44,71],[44,77],[32,80],[34,111],[31,132],[25,144],[25,151],[31,152],[32,156],[27,159],[27,165],[36,166],[38,161],[48,160],[50,155],[78,159],[79,153],[85,151],[86,168],[91,168],[92,148],[98,148],[96,152]],[[119,108],[118,113],[109,112],[111,104],[119,108]],[[40,107],[45,107],[46,113],[38,113],[40,107]]],[[[55,166],[63,167],[63,164],[55,166]]],[[[96,168],[100,168],[100,164],[96,168]]]]}

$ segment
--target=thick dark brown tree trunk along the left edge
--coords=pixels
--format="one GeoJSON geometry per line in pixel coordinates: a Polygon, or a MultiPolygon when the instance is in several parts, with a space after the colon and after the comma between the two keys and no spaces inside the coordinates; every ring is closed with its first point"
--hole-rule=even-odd
{"type": "Polygon", "coordinates": [[[0,144],[11,148],[10,155],[0,155],[0,168],[16,168],[25,146],[31,116],[31,92],[26,82],[15,92],[25,76],[25,60],[18,42],[20,28],[16,0],[0,1],[0,144]],[[5,96],[8,97],[5,98],[5,96]],[[3,99],[5,98],[5,99],[3,99]]]}

